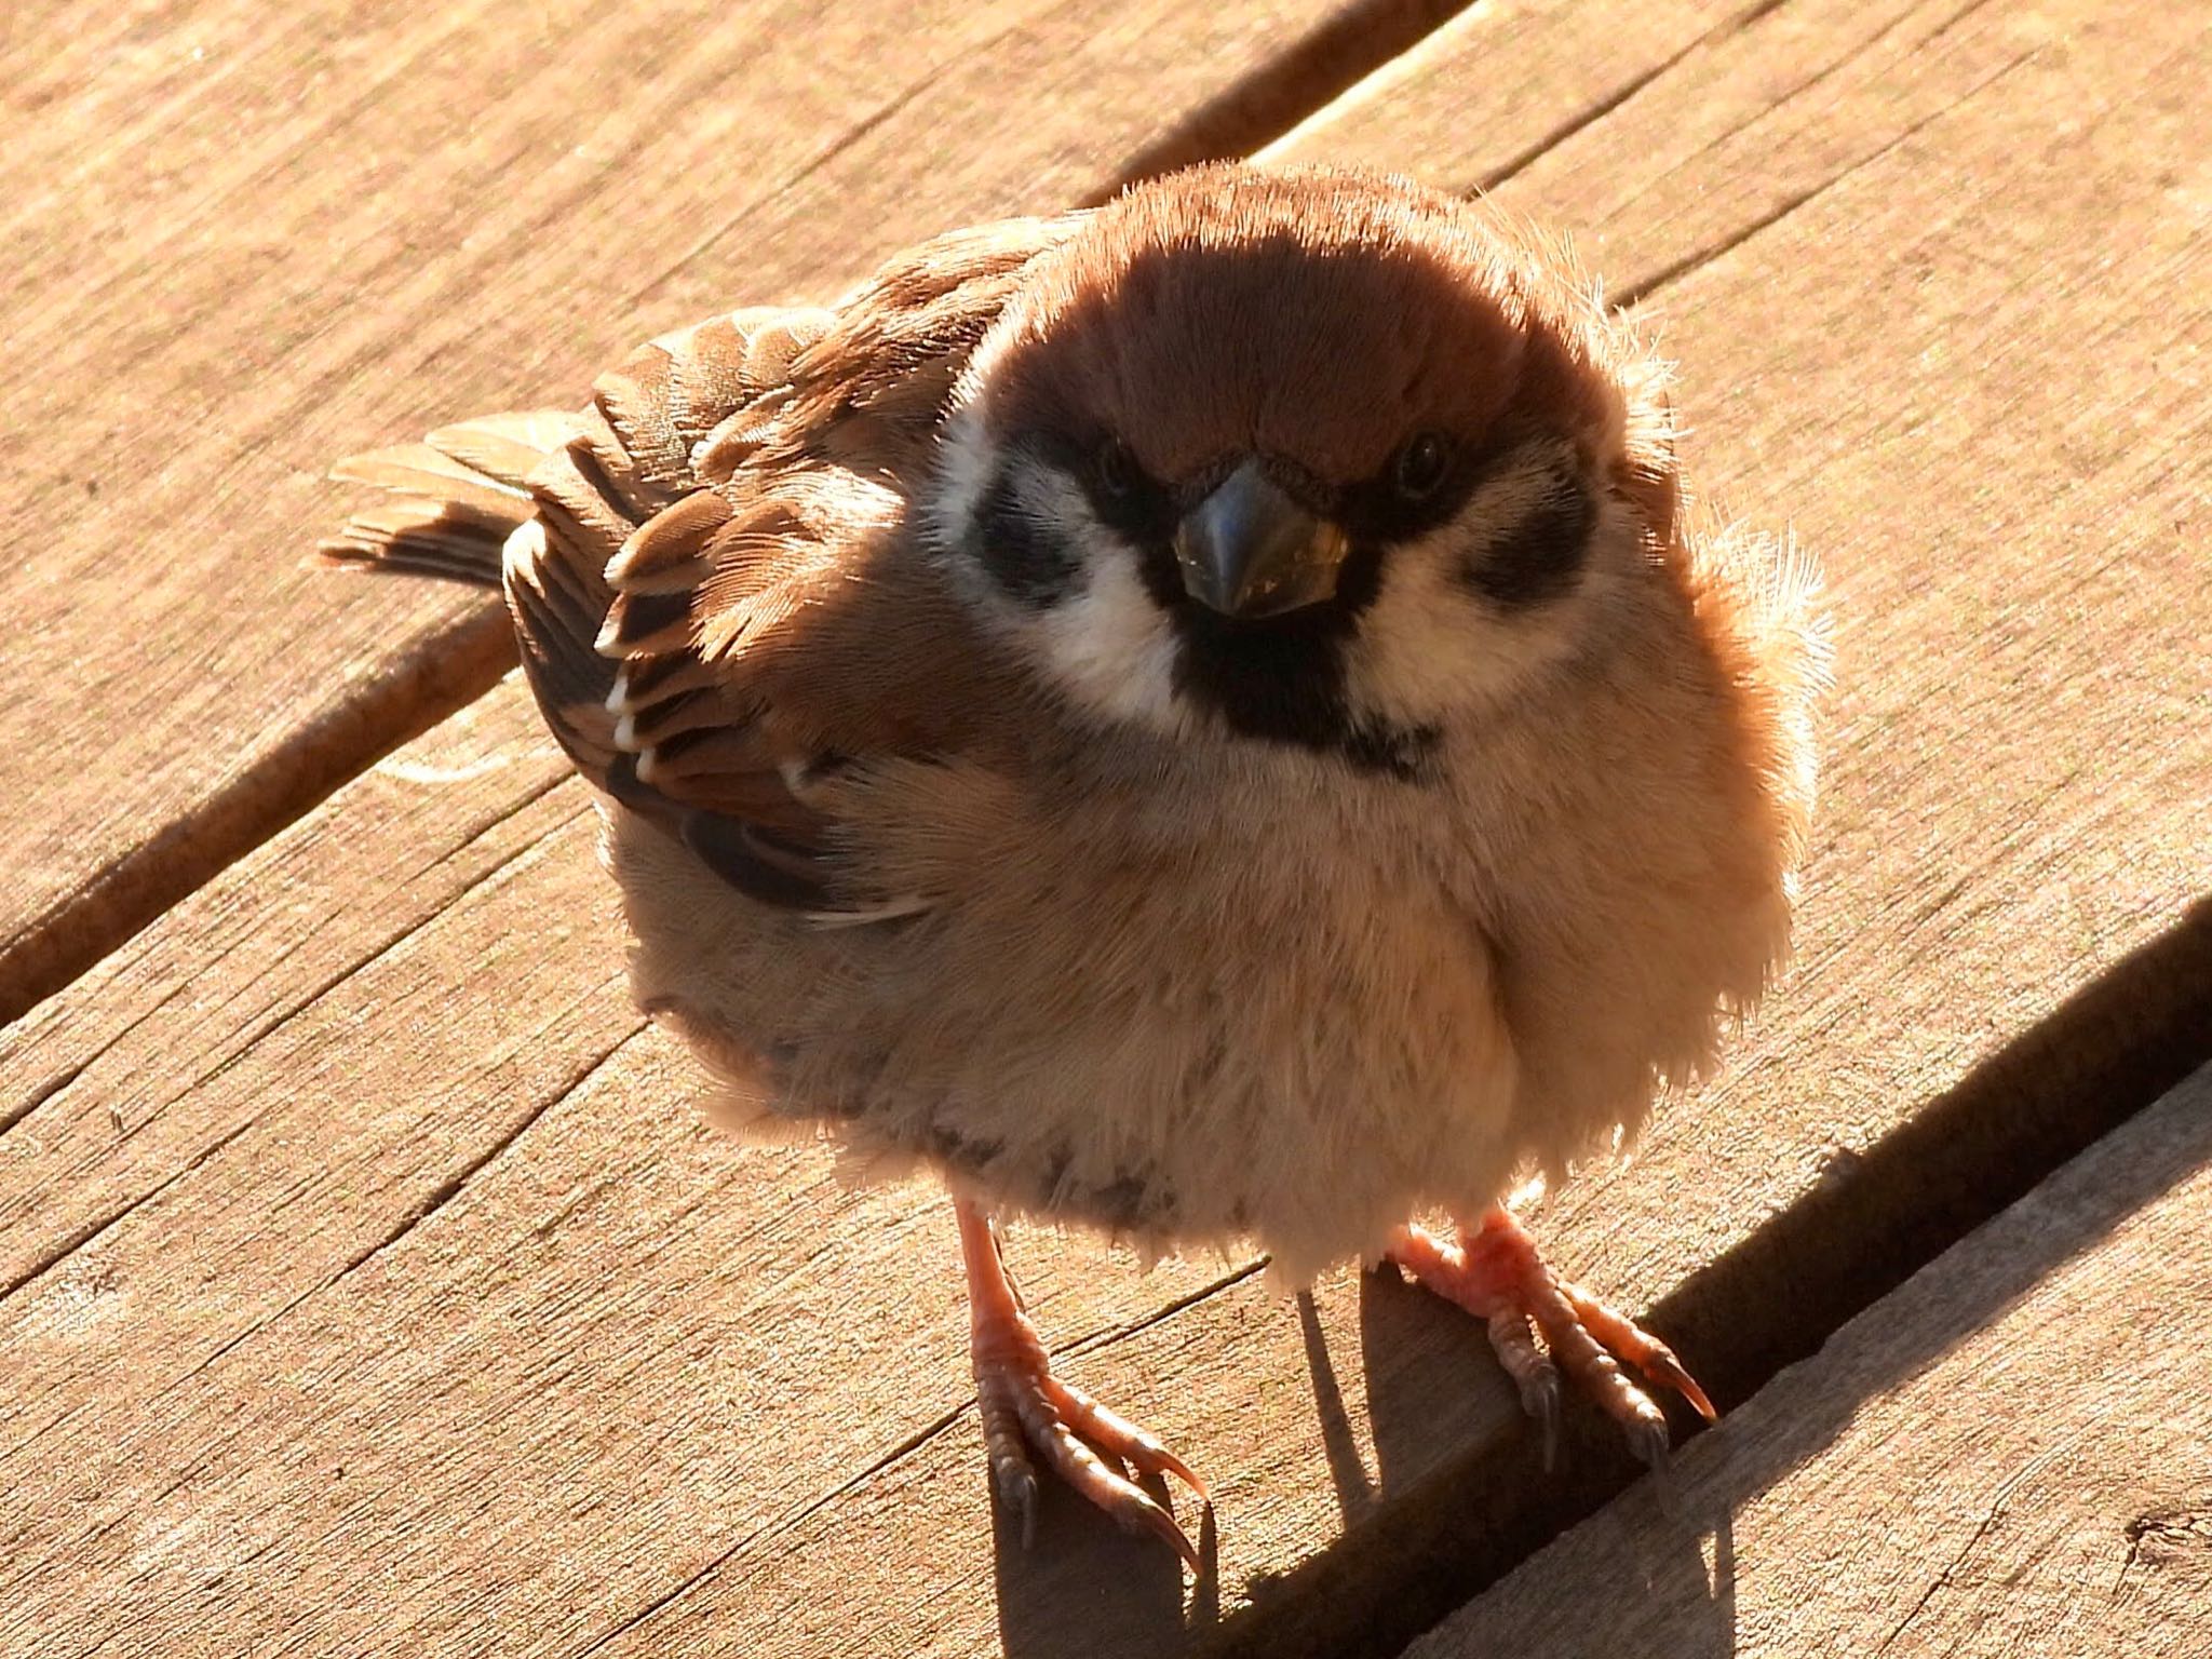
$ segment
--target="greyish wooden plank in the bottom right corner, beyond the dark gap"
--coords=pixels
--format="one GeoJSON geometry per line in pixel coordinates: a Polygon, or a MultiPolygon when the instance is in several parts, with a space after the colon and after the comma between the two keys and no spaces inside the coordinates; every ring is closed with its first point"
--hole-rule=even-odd
{"type": "Polygon", "coordinates": [[[2203,1655],[2208,1223],[2199,1073],[1407,1659],[2203,1655]]]}

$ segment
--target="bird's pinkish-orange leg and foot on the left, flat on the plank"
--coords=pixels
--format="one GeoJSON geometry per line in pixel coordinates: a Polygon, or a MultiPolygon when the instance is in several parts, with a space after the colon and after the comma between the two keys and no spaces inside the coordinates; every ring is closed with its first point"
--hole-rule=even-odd
{"type": "Polygon", "coordinates": [[[1197,1573],[1199,1553],[1183,1528],[1130,1480],[1130,1471],[1175,1475],[1199,1502],[1210,1502],[1206,1482],[1135,1422],[1053,1376],[1044,1340],[1006,1276],[991,1223],[964,1201],[953,1206],[953,1214],[960,1219],[960,1256],[967,1263],[982,1440],[991,1453],[1000,1502],[1022,1522],[1022,1546],[1037,1535],[1037,1471],[1029,1460],[1035,1451],[1077,1493],[1128,1531],[1159,1537],[1197,1573]]]}

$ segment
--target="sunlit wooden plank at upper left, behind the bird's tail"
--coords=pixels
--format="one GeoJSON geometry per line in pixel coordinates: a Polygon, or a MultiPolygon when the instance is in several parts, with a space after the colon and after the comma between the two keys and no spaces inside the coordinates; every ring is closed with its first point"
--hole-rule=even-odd
{"type": "Polygon", "coordinates": [[[1451,9],[11,7],[0,1022],[511,659],[482,595],[299,568],[332,456],[1234,153],[1451,9]]]}

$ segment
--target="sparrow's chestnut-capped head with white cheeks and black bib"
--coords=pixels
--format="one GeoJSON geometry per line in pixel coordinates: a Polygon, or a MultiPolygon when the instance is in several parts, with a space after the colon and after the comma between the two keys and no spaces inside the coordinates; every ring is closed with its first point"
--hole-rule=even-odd
{"type": "Polygon", "coordinates": [[[1042,254],[931,529],[1077,706],[1418,768],[1672,535],[1657,374],[1460,199],[1199,168],[1042,254]]]}

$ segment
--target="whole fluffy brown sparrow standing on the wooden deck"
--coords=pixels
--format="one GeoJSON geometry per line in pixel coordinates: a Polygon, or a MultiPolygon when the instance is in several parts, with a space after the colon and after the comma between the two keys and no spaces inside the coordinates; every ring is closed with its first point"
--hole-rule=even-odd
{"type": "Polygon", "coordinates": [[[1000,1212],[1389,1256],[1546,1420],[1564,1371],[1661,1455],[1615,1356],[1712,1413],[1500,1194],[1781,962],[1823,635],[1807,564],[1692,531],[1557,252],[1208,166],[338,476],[403,500],[330,557],[504,584],[721,1110],[951,1186],[1024,1535],[1033,1458],[1192,1562],[1130,1473],[1203,1486],[1053,1374],[1000,1212]]]}

